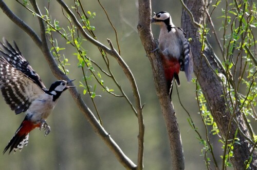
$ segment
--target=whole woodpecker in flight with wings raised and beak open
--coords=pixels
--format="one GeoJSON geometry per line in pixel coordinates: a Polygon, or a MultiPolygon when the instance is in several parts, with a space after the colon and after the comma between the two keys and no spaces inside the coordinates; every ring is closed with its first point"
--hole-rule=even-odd
{"type": "Polygon", "coordinates": [[[67,86],[73,80],[59,80],[52,83],[47,90],[15,42],[13,47],[5,38],[3,42],[0,42],[0,88],[11,110],[15,111],[15,114],[26,114],[3,152],[10,148],[10,154],[12,150],[21,151],[23,146],[28,144],[29,132],[33,129],[44,129],[45,135],[49,134],[50,126],[47,125],[46,118],[62,92],[75,86],[67,86]]]}

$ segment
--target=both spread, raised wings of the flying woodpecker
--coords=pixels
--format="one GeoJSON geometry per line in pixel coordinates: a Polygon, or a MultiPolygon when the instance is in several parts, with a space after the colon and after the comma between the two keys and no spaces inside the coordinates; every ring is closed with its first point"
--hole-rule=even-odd
{"type": "Polygon", "coordinates": [[[19,114],[25,112],[35,98],[45,93],[41,88],[45,86],[19,49],[10,49],[10,45],[7,48],[0,44],[5,51],[0,50],[0,89],[11,110],[19,114]]]}

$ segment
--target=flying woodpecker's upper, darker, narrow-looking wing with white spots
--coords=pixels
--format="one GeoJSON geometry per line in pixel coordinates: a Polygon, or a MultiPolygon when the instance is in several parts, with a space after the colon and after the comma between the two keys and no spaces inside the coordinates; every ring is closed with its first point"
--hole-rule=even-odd
{"type": "Polygon", "coordinates": [[[20,70],[29,78],[31,78],[41,89],[46,90],[44,83],[38,74],[32,69],[29,65],[29,62],[24,58],[21,51],[17,47],[16,43],[13,42],[14,47],[3,38],[4,44],[0,42],[0,47],[3,51],[0,50],[0,55],[3,56],[12,67],[15,67],[17,70],[20,70]]]}

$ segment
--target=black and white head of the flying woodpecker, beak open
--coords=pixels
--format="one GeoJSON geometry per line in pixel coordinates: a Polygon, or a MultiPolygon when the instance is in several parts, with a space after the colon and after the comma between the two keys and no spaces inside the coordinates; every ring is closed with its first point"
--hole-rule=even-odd
{"type": "Polygon", "coordinates": [[[60,97],[60,95],[62,94],[62,92],[64,92],[65,90],[67,90],[69,88],[75,88],[76,86],[67,86],[67,84],[69,82],[74,81],[74,80],[69,80],[69,81],[59,80],[59,81],[52,83],[48,90],[48,93],[50,95],[53,95],[53,101],[57,100],[60,97]]]}

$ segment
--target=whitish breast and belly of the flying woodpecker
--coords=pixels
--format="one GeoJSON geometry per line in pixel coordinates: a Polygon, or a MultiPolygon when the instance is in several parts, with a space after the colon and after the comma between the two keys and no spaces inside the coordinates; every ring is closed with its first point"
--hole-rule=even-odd
{"type": "Polygon", "coordinates": [[[43,94],[32,101],[26,114],[31,115],[31,121],[46,120],[51,114],[56,102],[52,102],[52,95],[43,94]]]}

